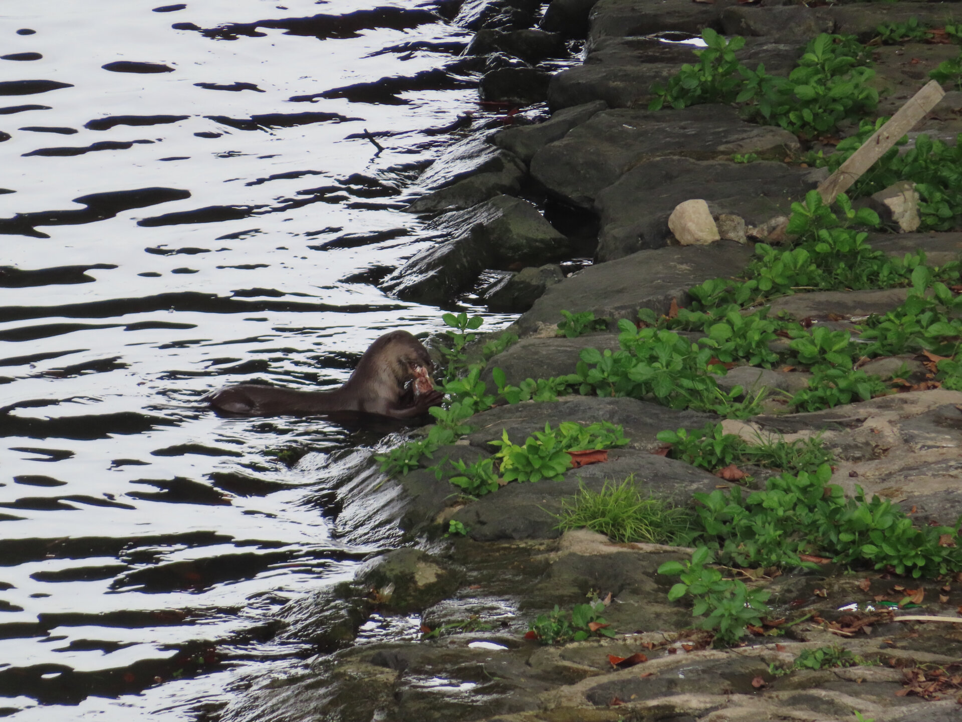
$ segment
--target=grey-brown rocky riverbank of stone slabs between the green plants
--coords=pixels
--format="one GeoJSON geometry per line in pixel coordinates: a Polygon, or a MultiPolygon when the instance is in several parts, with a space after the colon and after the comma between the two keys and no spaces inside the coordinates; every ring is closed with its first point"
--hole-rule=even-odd
{"type": "MultiPolygon", "coordinates": [[[[792,202],[827,173],[795,162],[795,135],[748,123],[727,105],[646,110],[652,85],[692,59],[691,46],[677,39],[704,28],[746,36],[741,58],[785,74],[804,42],[821,32],[867,40],[880,21],[944,20],[945,7],[553,0],[543,30],[529,30],[533,7],[466,4],[459,17],[477,18],[466,27],[485,28],[469,52],[510,59],[484,76],[482,96],[546,100],[552,114],[542,123],[469,136],[421,176],[409,210],[432,214],[441,240],[383,287],[446,303],[482,271],[503,271],[487,297],[493,308],[523,312],[509,329],[520,341],[487,361],[480,378],[488,391],[496,392],[494,369],[516,385],[574,374],[583,349],[620,348],[619,320],[634,322],[643,309],[659,316],[685,308],[692,287],[741,275],[753,244],[783,242],[792,202]],[[564,39],[586,35],[583,65],[550,76],[537,66],[560,54],[564,39]],[[747,154],[762,160],[734,161],[747,154]],[[568,277],[544,266],[583,246],[524,199],[532,193],[597,219],[595,265],[568,277]],[[693,198],[707,201],[714,219],[741,222],[714,243],[677,245],[669,218],[693,198]],[[609,328],[558,337],[563,309],[591,312],[609,328]]],[[[947,45],[876,48],[879,114],[898,108],[930,69],[956,54],[947,45]]],[[[949,92],[911,136],[954,137],[960,113],[962,93],[949,92]]],[[[887,232],[869,242],[891,256],[923,249],[936,266],[962,252],[962,233],[887,232]]],[[[770,313],[851,329],[898,307],[907,293],[797,293],[774,299],[770,313]]],[[[790,395],[811,374],[735,365],[718,382],[723,390],[739,385],[748,394],[772,394],[763,413],[722,427],[748,441],[820,436],[834,454],[831,483],[846,494],[854,495],[857,484],[869,497],[898,504],[916,525],[952,526],[962,514],[962,392],[924,383],[923,360],[903,354],[862,366],[881,378],[906,376],[903,382],[918,390],[807,413],[788,413],[793,409],[774,392],[790,395]]],[[[558,529],[565,500],[579,489],[600,491],[606,480],[633,476],[680,506],[693,504],[693,494],[729,488],[704,469],[653,453],[663,451],[660,431],[720,421],[646,400],[569,396],[485,410],[467,420],[474,430],[397,479],[386,480],[358,455],[344,464],[339,490],[344,533],[397,525],[411,546],[372,558],[352,582],[285,609],[280,633],[310,640],[318,654],[283,676],[252,681],[219,718],[815,722],[850,720],[857,712],[876,722],[958,719],[959,578],[920,581],[886,569],[851,574],[828,559],[809,571],[755,570],[760,576],[752,583],[771,592],[771,617],[782,621],[743,646],[710,649],[710,638],[691,630],[690,609],[668,601],[674,578],[657,573],[691,550],[558,529]],[[502,430],[522,444],[545,423],[567,421],[621,425],[629,443],[560,480],[510,483],[473,501],[448,483],[450,471],[439,476],[429,468],[440,458],[492,457],[491,442],[502,430]],[[466,535],[443,536],[451,522],[466,535]],[[923,607],[916,616],[943,620],[899,621],[901,602],[898,615],[882,605],[905,595],[923,607]],[[539,614],[589,596],[608,603],[613,637],[543,646],[526,636],[539,614]],[[782,635],[765,634],[779,627],[782,635]],[[782,672],[826,647],[850,663],[782,672]]]]}

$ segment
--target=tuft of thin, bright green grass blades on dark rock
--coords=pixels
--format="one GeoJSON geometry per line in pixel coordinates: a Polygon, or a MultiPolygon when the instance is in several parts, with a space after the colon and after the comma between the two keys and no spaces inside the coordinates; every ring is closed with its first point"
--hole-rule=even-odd
{"type": "Polygon", "coordinates": [[[617,542],[685,544],[690,541],[691,514],[650,495],[643,495],[634,475],[620,484],[605,481],[595,492],[581,484],[562,500],[557,529],[591,529],[617,542]]]}

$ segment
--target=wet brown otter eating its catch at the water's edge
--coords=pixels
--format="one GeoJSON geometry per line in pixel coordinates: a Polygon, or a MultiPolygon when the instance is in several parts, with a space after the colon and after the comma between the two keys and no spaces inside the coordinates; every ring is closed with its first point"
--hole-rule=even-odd
{"type": "Polygon", "coordinates": [[[434,388],[434,364],[427,349],[407,331],[392,331],[367,348],[351,377],[331,391],[295,391],[241,384],[215,391],[206,400],[230,416],[313,416],[337,412],[416,419],[443,394],[434,388]]]}

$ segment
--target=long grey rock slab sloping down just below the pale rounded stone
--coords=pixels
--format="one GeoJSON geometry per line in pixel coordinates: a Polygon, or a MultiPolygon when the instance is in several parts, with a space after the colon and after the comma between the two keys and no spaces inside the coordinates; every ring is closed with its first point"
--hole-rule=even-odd
{"type": "Polygon", "coordinates": [[[520,335],[530,336],[561,321],[561,310],[592,311],[595,318],[635,319],[638,309],[668,313],[671,299],[686,306],[688,289],[709,278],[734,277],[751,259],[750,245],[720,241],[712,245],[671,245],[642,250],[601,263],[566,278],[544,292],[519,320],[520,335]]]}

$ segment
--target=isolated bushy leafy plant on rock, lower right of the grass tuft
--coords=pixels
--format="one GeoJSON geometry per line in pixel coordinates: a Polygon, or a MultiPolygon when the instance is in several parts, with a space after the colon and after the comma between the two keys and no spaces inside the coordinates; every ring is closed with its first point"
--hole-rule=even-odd
{"type": "Polygon", "coordinates": [[[704,616],[700,629],[715,632],[715,644],[735,644],[746,633],[747,625],[758,627],[761,615],[771,609],[765,603],[771,594],[765,589],[749,588],[740,580],[722,577],[722,572],[707,567],[715,560],[711,550],[698,547],[691,561],[667,561],[658,567],[658,574],[678,577],[668,598],[672,602],[690,596],[695,602],[692,614],[704,616]]]}

